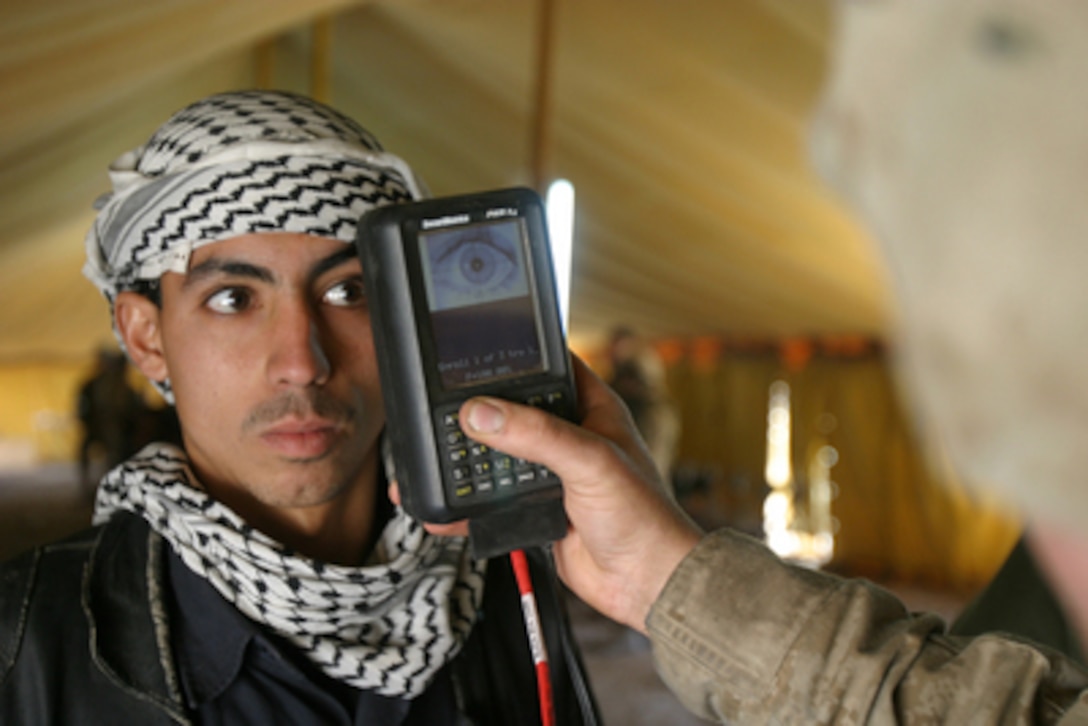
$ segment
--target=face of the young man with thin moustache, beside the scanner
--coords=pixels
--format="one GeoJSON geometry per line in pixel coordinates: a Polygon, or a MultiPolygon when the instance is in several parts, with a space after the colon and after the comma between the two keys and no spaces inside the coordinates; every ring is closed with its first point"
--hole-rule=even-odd
{"type": "Polygon", "coordinates": [[[312,507],[373,482],[385,422],[351,246],[252,234],[162,278],[160,335],[186,451],[245,512],[312,507]]]}

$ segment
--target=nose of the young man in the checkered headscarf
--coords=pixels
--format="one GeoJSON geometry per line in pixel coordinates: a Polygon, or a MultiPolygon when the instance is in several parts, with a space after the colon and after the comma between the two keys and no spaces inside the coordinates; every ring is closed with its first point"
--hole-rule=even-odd
{"type": "Polygon", "coordinates": [[[317,316],[298,300],[281,305],[271,321],[269,377],[276,385],[321,385],[332,370],[317,316]]]}

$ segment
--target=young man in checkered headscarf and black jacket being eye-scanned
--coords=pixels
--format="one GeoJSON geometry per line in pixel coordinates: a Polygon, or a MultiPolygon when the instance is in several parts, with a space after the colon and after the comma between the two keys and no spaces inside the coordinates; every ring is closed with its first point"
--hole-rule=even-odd
{"type": "MultiPolygon", "coordinates": [[[[184,446],[110,471],[96,527],[0,570],[0,721],[535,718],[508,566],[386,493],[350,243],[368,209],[423,195],[411,170],[333,109],[244,91],[177,112],[110,174],[85,274],[184,446]]],[[[592,723],[536,575],[556,710],[592,723]]]]}

